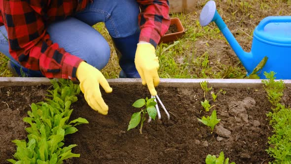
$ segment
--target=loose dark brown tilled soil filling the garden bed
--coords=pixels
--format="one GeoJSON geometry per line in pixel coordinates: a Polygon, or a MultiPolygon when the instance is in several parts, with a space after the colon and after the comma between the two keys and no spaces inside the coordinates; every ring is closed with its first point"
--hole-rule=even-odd
{"type": "MultiPolygon", "coordinates": [[[[12,158],[16,150],[11,142],[26,139],[22,118],[30,104],[42,101],[48,86],[2,87],[0,89],[0,163],[12,158]]],[[[220,88],[214,88],[217,92],[220,88]]],[[[72,119],[85,118],[89,124],[77,126],[79,131],[66,138],[67,144],[77,144],[74,153],[80,158],[67,164],[204,164],[208,154],[225,156],[236,164],[265,164],[267,137],[272,129],[266,113],[270,111],[263,88],[223,88],[216,102],[207,95],[211,109],[217,110],[220,123],[213,134],[210,128],[197,121],[209,116],[200,104],[204,99],[201,88],[157,87],[164,105],[171,115],[167,120],[145,123],[143,134],[139,128],[127,131],[131,115],[139,109],[135,100],[149,95],[145,86],[115,85],[110,94],[103,93],[109,114],[103,116],[92,110],[83,98],[73,104],[72,119]]],[[[290,89],[285,89],[282,102],[290,104],[290,89]]]]}

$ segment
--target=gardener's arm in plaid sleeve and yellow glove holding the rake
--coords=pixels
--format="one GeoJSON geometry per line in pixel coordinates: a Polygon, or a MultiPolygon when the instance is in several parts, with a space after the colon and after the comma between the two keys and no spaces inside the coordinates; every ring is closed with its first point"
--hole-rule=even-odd
{"type": "Polygon", "coordinates": [[[155,47],[170,26],[168,0],[137,0],[142,12],[139,15],[141,28],[140,43],[137,47],[135,64],[142,78],[142,83],[156,95],[155,86],[160,82],[158,76],[159,61],[155,47]]]}

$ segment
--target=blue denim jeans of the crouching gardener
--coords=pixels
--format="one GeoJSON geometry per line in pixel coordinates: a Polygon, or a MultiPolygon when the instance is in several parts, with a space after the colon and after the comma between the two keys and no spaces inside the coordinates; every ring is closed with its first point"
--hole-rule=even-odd
{"type": "MultiPolygon", "coordinates": [[[[140,32],[139,12],[136,0],[94,0],[76,15],[48,25],[47,32],[51,40],[67,52],[101,70],[109,61],[110,47],[104,37],[91,26],[104,22],[112,39],[126,38],[140,32]]],[[[5,27],[0,26],[0,31],[4,35],[0,33],[0,52],[20,68],[20,64],[9,54],[5,27]]],[[[25,73],[29,72],[26,75],[28,77],[43,77],[40,71],[23,70],[25,73]]]]}

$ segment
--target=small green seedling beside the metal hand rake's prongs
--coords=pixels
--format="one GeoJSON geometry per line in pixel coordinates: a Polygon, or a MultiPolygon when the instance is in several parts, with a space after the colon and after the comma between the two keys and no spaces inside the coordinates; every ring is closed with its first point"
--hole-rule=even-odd
{"type": "Polygon", "coordinates": [[[144,106],[146,106],[146,108],[145,109],[141,109],[140,112],[136,112],[131,116],[131,119],[130,119],[130,122],[128,124],[128,129],[127,130],[133,129],[133,128],[135,128],[136,126],[138,126],[141,123],[140,133],[142,134],[143,133],[142,132],[143,125],[144,125],[144,122],[146,121],[146,114],[148,114],[148,116],[151,119],[155,120],[155,117],[157,115],[157,110],[155,108],[155,105],[157,103],[154,101],[154,99],[155,98],[148,99],[146,97],[146,99],[138,99],[137,101],[135,101],[133,103],[132,106],[134,106],[136,108],[142,108],[144,106]],[[143,115],[143,117],[141,115],[143,115]]]}

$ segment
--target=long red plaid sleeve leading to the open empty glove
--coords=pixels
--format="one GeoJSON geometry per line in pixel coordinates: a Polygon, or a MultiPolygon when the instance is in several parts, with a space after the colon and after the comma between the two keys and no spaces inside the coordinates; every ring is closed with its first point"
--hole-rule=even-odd
{"type": "MultiPolygon", "coordinates": [[[[76,80],[80,58],[52,43],[43,22],[42,0],[3,0],[0,4],[9,52],[22,66],[47,78],[76,80]],[[12,7],[13,6],[13,7],[12,7]]],[[[66,13],[64,13],[66,14],[66,13]]]]}

